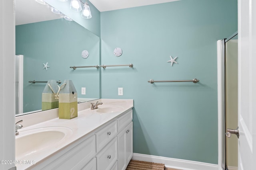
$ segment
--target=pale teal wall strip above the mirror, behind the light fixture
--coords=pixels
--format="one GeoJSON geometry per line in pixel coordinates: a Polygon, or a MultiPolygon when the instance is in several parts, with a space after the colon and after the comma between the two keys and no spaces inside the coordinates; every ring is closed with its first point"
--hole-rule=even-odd
{"type": "MultiPolygon", "coordinates": [[[[98,37],[100,37],[100,12],[97,8],[95,8],[94,5],[92,5],[89,1],[88,4],[90,6],[90,10],[92,13],[92,18],[85,19],[81,17],[81,11],[76,12],[70,10],[70,1],[61,2],[58,0],[44,0],[47,2],[50,6],[58,9],[60,12],[65,14],[66,16],[72,18],[72,20],[76,21],[98,37]]],[[[85,2],[85,0],[83,0],[85,2]]]]}

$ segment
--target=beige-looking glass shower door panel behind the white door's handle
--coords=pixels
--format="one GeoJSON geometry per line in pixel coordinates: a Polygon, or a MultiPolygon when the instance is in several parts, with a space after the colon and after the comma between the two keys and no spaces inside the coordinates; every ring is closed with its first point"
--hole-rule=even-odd
{"type": "MultiPolygon", "coordinates": [[[[238,127],[238,35],[225,43],[226,129],[238,127]]],[[[226,137],[226,168],[238,169],[238,138],[226,137]]]]}

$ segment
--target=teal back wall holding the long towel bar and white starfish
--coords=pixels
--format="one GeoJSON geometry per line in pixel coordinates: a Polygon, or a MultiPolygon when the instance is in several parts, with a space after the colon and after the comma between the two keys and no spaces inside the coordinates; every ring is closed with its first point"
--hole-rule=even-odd
{"type": "Polygon", "coordinates": [[[237,1],[181,0],[100,20],[101,64],[134,64],[101,70],[102,98],[134,99],[134,152],[218,164],[216,43],[237,31],[237,1]]]}

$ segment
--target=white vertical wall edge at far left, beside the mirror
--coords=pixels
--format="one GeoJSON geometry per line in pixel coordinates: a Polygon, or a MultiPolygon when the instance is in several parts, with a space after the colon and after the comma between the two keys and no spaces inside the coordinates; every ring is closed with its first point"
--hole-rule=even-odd
{"type": "MultiPolygon", "coordinates": [[[[0,1],[0,160],[14,160],[14,1],[0,1]]],[[[15,165],[0,164],[1,170],[15,165]]]]}

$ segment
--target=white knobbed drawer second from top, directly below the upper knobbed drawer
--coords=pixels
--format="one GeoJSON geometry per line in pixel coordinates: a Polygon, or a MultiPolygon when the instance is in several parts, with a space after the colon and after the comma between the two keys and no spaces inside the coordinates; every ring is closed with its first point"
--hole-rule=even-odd
{"type": "Polygon", "coordinates": [[[97,170],[110,170],[117,161],[117,137],[96,155],[97,170]]]}

